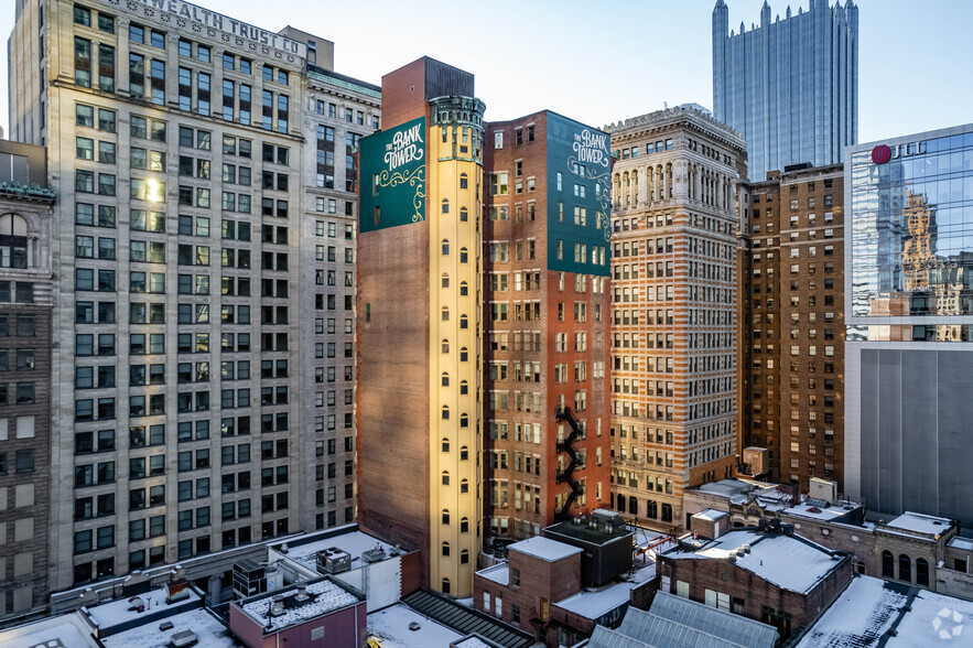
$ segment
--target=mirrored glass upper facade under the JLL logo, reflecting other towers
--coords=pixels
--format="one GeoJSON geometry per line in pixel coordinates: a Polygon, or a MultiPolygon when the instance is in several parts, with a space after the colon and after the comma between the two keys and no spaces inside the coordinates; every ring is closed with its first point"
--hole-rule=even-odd
{"type": "Polygon", "coordinates": [[[969,342],[956,317],[973,314],[973,127],[874,150],[851,154],[848,323],[871,326],[848,334],[969,342]]]}

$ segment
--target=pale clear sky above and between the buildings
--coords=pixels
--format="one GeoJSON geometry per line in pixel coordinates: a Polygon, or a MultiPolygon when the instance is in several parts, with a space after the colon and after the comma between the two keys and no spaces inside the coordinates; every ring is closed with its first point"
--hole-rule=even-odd
{"type": "MultiPolygon", "coordinates": [[[[763,0],[726,0],[729,24],[763,0]]],[[[844,0],[842,0],[844,2],[844,0]]],[[[487,119],[550,108],[602,126],[662,107],[712,107],[714,0],[199,0],[251,24],[291,24],[335,43],[335,71],[375,84],[430,55],[476,75],[487,119]]],[[[0,33],[13,0],[0,0],[0,33]]],[[[973,121],[971,0],[861,0],[860,141],[973,121]]],[[[791,4],[807,9],[808,0],[791,4]]],[[[787,3],[770,3],[783,15],[787,3]]],[[[0,47],[7,71],[7,47],[0,47]]],[[[0,125],[8,123],[6,76],[0,125]]]]}

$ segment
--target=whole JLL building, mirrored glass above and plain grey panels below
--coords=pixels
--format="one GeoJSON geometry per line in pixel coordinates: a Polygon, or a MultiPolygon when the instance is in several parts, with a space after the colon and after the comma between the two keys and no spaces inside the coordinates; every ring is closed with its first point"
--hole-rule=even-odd
{"type": "Polygon", "coordinates": [[[971,204],[973,125],[846,153],[845,489],[882,517],[973,527],[971,204]]]}

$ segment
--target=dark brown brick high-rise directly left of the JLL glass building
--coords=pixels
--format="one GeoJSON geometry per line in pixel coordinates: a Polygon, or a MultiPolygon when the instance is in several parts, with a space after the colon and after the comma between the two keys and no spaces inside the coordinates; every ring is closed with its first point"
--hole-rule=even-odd
{"type": "Polygon", "coordinates": [[[745,471],[842,489],[844,174],[798,166],[749,185],[742,209],[743,438],[766,450],[745,471]]]}

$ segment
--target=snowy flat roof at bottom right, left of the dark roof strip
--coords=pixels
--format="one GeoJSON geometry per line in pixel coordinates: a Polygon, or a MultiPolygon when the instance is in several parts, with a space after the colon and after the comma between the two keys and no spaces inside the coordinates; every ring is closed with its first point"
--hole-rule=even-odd
{"type": "Polygon", "coordinates": [[[872,576],[853,579],[797,648],[877,646],[906,606],[908,596],[900,590],[872,576]]]}

